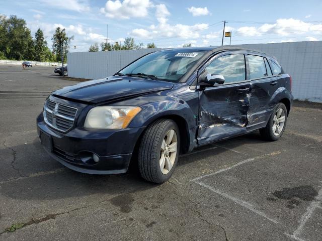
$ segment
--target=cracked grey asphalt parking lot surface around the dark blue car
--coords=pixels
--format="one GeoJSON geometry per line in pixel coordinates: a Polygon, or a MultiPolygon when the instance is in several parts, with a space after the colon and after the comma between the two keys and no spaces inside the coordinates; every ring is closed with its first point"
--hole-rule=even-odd
{"type": "Polygon", "coordinates": [[[254,132],[205,146],[154,185],[45,153],[36,116],[77,83],[53,69],[0,65],[0,240],[322,240],[321,104],[296,101],[277,142],[254,132]]]}

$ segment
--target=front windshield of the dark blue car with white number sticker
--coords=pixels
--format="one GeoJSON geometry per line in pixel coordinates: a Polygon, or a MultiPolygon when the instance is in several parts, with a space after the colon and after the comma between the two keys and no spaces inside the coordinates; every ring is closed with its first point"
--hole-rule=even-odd
{"type": "Polygon", "coordinates": [[[205,51],[185,49],[158,51],[143,56],[117,74],[179,82],[204,54],[205,51]]]}

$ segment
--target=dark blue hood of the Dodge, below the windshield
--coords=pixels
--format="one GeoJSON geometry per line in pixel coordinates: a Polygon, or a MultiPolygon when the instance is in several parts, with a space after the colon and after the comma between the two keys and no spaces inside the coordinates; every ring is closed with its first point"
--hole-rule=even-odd
{"type": "Polygon", "coordinates": [[[53,91],[57,97],[100,103],[130,96],[171,89],[173,83],[133,77],[111,76],[90,80],[53,91]]]}

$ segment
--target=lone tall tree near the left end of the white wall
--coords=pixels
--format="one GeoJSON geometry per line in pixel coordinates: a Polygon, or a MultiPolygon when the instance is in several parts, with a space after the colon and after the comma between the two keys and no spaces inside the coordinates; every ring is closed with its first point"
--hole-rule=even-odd
{"type": "Polygon", "coordinates": [[[66,60],[66,56],[69,51],[70,41],[73,39],[74,39],[74,36],[68,37],[65,29],[61,29],[60,27],[56,28],[56,31],[53,37],[51,38],[52,49],[56,54],[56,61],[61,60],[62,65],[64,60],[66,60]],[[64,53],[63,55],[61,55],[62,52],[64,53]]]}

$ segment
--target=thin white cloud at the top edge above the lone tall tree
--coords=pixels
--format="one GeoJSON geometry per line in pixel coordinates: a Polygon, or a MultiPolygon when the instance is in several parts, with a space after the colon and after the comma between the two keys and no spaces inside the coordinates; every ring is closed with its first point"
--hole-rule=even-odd
{"type": "Polygon", "coordinates": [[[52,0],[40,1],[47,6],[76,12],[88,12],[91,9],[87,0],[64,0],[63,2],[52,0]]]}

